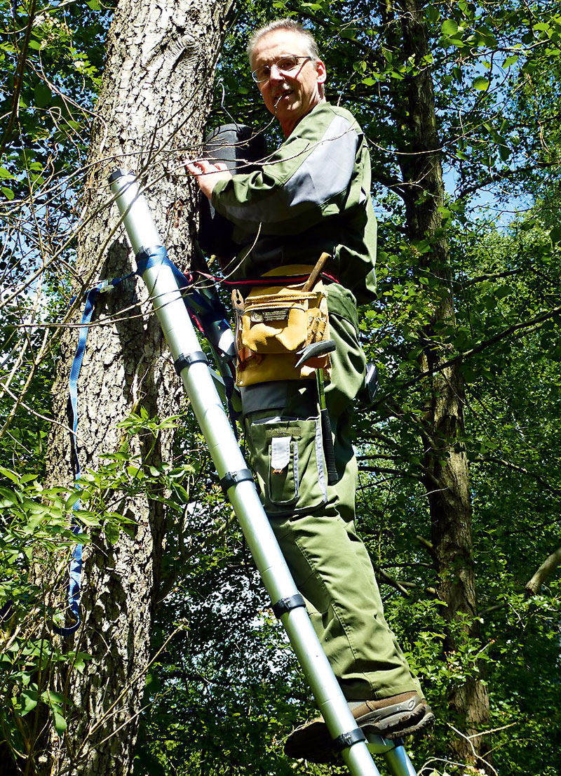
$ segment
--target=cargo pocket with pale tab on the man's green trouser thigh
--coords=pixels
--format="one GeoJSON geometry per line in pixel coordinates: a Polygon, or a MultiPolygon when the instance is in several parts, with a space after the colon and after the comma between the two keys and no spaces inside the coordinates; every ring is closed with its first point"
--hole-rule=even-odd
{"type": "Polygon", "coordinates": [[[271,514],[315,509],[327,501],[321,425],[317,417],[247,419],[261,500],[271,514]]]}

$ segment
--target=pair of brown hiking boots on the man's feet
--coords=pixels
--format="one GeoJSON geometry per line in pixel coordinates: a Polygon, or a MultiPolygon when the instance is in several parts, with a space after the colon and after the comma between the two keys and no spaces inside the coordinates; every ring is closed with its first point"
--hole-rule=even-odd
{"type": "MultiPolygon", "coordinates": [[[[386,739],[401,738],[424,729],[435,716],[430,706],[416,692],[403,692],[379,701],[363,701],[352,704],[352,715],[365,736],[382,736],[386,739]]],[[[338,754],[323,717],[306,722],[286,739],[285,754],[311,763],[333,762],[338,754]]]]}

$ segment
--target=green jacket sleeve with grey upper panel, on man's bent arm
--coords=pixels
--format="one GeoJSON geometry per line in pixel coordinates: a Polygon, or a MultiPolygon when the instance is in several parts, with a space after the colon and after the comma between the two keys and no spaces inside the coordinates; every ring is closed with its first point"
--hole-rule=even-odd
{"type": "Polygon", "coordinates": [[[345,210],[359,146],[345,116],[314,110],[261,170],[217,183],[213,206],[249,234],[299,234],[345,210]]]}

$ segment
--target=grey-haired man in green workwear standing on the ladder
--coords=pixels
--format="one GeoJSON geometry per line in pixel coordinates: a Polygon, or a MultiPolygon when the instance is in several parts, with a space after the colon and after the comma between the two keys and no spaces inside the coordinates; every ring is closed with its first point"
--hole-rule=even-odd
{"type": "MultiPolygon", "coordinates": [[[[232,176],[226,165],[205,159],[187,165],[245,245],[227,267],[230,279],[261,284],[237,303],[244,428],[265,511],[358,727],[400,738],[434,717],[384,619],[372,564],[355,533],[357,464],[349,429],[352,403],[365,383],[356,304],[374,298],[376,260],[366,140],[347,110],[326,102],[325,65],[307,29],[291,19],[268,24],[251,37],[248,55],[285,142],[248,175],[232,176]],[[284,276],[310,275],[326,254],[320,290],[316,285],[310,293],[304,285],[299,296],[284,276]],[[265,289],[264,276],[272,277],[265,289]],[[288,292],[280,287],[285,281],[288,292]],[[317,320],[325,298],[328,324],[322,327],[317,320]],[[318,317],[310,311],[316,302],[318,317]],[[319,325],[317,341],[328,336],[335,345],[325,386],[333,435],[324,434],[323,442],[311,377],[314,365],[329,375],[330,356],[323,345],[314,350],[309,331],[305,347],[291,352],[300,308],[308,323],[319,325]],[[289,341],[286,354],[279,340],[282,347],[289,341]],[[305,361],[306,346],[319,358],[305,361]],[[329,450],[334,476],[326,473],[329,450]]],[[[329,760],[323,720],[294,730],[285,750],[291,757],[329,760]]]]}

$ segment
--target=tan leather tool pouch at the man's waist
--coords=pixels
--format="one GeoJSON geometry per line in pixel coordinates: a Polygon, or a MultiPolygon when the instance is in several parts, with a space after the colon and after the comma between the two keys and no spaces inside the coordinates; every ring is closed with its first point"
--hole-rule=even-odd
{"type": "MultiPolygon", "coordinates": [[[[310,275],[313,267],[289,265],[265,272],[275,275],[310,275]]],[[[300,286],[254,286],[245,299],[232,293],[236,314],[237,386],[271,380],[300,380],[313,377],[314,369],[330,376],[329,354],[310,359],[296,369],[298,352],[313,342],[329,338],[327,291],[321,279],[310,290],[300,286]]]]}

